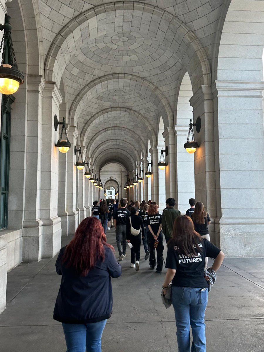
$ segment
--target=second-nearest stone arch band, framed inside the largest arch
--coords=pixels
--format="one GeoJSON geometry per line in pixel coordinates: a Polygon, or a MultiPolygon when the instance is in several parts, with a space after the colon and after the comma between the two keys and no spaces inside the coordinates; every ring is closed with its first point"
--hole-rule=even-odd
{"type": "Polygon", "coordinates": [[[75,97],[69,110],[69,121],[71,125],[77,124],[77,117],[84,107],[84,100],[89,100],[93,94],[98,91],[108,90],[109,87],[117,86],[129,87],[143,96],[150,99],[153,105],[157,106],[158,111],[163,115],[166,127],[171,127],[173,124],[173,113],[165,95],[153,83],[139,76],[130,74],[109,74],[103,77],[96,78],[85,86],[75,97]]]}

